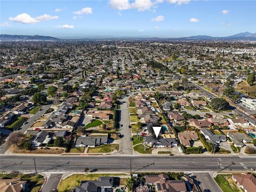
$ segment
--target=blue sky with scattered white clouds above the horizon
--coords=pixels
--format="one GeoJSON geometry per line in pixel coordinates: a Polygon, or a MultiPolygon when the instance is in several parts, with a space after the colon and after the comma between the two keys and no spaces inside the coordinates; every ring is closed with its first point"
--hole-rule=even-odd
{"type": "Polygon", "coordinates": [[[256,1],[5,1],[1,34],[59,38],[229,36],[256,33],[256,1]]]}

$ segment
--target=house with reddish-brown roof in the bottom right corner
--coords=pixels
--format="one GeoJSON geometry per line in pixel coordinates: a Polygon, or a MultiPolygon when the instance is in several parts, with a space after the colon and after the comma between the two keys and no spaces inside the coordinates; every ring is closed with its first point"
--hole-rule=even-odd
{"type": "Polygon", "coordinates": [[[256,177],[251,174],[233,174],[232,179],[237,183],[239,188],[242,188],[245,192],[256,191],[256,177]]]}

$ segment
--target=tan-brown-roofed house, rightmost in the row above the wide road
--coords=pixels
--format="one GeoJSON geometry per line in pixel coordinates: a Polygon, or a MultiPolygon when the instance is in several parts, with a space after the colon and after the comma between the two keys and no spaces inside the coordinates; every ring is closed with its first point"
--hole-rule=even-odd
{"type": "Polygon", "coordinates": [[[244,143],[252,142],[253,139],[245,133],[229,133],[227,137],[231,139],[235,147],[243,147],[244,143]]]}

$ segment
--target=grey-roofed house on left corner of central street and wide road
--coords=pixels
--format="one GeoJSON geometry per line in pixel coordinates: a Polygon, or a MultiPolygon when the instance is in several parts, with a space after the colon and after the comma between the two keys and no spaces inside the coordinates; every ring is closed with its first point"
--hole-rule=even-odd
{"type": "Polygon", "coordinates": [[[75,147],[95,147],[107,144],[108,137],[102,136],[102,137],[77,137],[75,142],[75,147]]]}

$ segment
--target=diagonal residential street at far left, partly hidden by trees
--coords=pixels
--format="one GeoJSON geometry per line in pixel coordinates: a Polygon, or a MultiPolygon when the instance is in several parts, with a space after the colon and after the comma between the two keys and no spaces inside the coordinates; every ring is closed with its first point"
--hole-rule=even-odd
{"type": "MultiPolygon", "coordinates": [[[[19,132],[26,133],[29,127],[33,125],[35,121],[37,121],[39,116],[43,115],[46,112],[46,110],[48,110],[51,106],[52,104],[43,106],[41,111],[38,111],[35,115],[33,115],[31,118],[28,119],[27,124],[21,126],[21,130],[19,130],[19,132]]],[[[3,143],[3,145],[1,145],[0,147],[0,154],[4,154],[8,149],[9,149],[9,146],[3,143]]]]}

